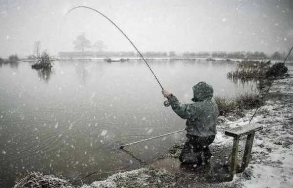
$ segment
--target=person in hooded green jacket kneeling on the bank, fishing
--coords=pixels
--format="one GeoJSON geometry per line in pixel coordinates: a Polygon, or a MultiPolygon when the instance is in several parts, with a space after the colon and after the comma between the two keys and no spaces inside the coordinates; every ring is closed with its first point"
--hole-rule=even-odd
{"type": "Polygon", "coordinates": [[[192,87],[193,102],[182,104],[173,94],[163,90],[173,111],[186,121],[186,141],[179,160],[183,164],[201,165],[209,163],[211,144],[216,131],[216,120],[219,114],[218,106],[213,98],[213,88],[206,82],[199,82],[192,87]]]}

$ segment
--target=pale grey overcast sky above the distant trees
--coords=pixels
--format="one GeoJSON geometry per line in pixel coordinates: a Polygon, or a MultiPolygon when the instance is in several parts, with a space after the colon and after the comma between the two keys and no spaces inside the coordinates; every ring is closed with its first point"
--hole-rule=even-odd
{"type": "Polygon", "coordinates": [[[98,9],[141,51],[288,51],[293,0],[0,0],[0,56],[73,51],[82,32],[111,51],[134,51],[98,9]]]}

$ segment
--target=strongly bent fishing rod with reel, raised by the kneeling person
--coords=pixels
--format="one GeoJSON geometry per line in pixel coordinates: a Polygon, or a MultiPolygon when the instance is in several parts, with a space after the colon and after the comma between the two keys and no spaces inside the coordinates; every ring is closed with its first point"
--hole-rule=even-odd
{"type": "MultiPolygon", "coordinates": [[[[95,11],[96,13],[99,13],[100,15],[102,15],[105,19],[107,19],[110,23],[112,23],[125,37],[126,39],[129,41],[129,43],[135,48],[135,50],[138,52],[138,54],[141,56],[141,58],[144,60],[144,62],[146,63],[146,66],[148,67],[148,69],[151,71],[151,73],[153,74],[153,76],[155,77],[155,79],[157,80],[159,86],[161,87],[162,90],[164,90],[162,84],[160,83],[159,79],[157,78],[156,74],[152,71],[152,69],[150,68],[150,66],[148,65],[148,63],[146,62],[146,59],[144,58],[144,56],[142,55],[142,53],[138,50],[138,48],[132,43],[132,41],[127,37],[127,35],[118,27],[118,25],[116,25],[112,20],[110,20],[107,16],[105,16],[105,14],[101,13],[100,11],[88,7],[88,6],[76,6],[71,8],[66,14],[65,16],[67,16],[71,11],[73,11],[74,9],[77,8],[86,8],[86,9],[90,9],[92,11],[95,11]]],[[[164,101],[164,106],[170,106],[170,103],[168,100],[164,101]]]]}

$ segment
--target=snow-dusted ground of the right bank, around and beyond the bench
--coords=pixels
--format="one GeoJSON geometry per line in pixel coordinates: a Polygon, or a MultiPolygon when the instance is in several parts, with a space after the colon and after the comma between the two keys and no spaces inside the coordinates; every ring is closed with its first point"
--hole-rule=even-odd
{"type": "MultiPolygon", "coordinates": [[[[293,80],[274,81],[266,104],[262,106],[254,123],[264,129],[255,134],[251,152],[251,179],[241,179],[245,188],[292,188],[293,187],[293,80]]],[[[225,128],[245,126],[252,112],[245,118],[225,122],[225,128]]],[[[231,141],[219,133],[215,142],[231,141]]],[[[237,176],[237,175],[236,175],[237,176]]]]}

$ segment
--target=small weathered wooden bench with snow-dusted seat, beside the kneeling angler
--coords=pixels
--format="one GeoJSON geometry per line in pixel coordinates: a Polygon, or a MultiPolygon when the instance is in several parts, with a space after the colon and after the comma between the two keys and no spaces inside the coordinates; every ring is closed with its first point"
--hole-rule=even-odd
{"type": "Polygon", "coordinates": [[[250,123],[244,125],[241,128],[235,128],[231,130],[225,131],[225,135],[234,138],[233,141],[233,148],[231,153],[231,164],[230,164],[230,172],[234,175],[236,172],[243,172],[244,169],[248,166],[250,162],[251,156],[251,148],[253,143],[254,134],[256,131],[263,129],[261,125],[257,125],[254,123],[250,123]],[[242,163],[240,169],[237,167],[237,160],[238,160],[238,150],[239,150],[239,140],[240,137],[247,135],[244,154],[242,158],[242,163]]]}

